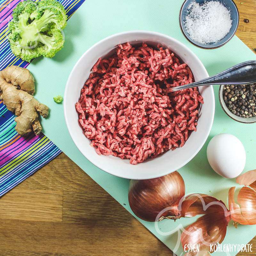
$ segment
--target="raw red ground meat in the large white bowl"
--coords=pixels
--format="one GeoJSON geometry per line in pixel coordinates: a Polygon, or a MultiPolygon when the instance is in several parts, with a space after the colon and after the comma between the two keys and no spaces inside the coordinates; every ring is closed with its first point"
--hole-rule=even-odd
{"type": "Polygon", "coordinates": [[[162,93],[192,82],[187,64],[169,49],[120,44],[93,66],[76,103],[79,122],[99,155],[142,163],[182,147],[189,131],[196,131],[203,103],[197,88],[162,93]]]}

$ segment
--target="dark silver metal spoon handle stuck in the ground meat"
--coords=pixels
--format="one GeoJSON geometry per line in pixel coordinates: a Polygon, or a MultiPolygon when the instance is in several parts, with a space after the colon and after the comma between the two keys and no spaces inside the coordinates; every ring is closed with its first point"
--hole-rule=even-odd
{"type": "Polygon", "coordinates": [[[256,83],[256,60],[249,60],[237,64],[232,68],[222,71],[218,75],[207,77],[203,80],[184,84],[177,87],[163,89],[167,94],[169,92],[176,92],[182,89],[202,86],[202,85],[221,85],[221,84],[253,84],[256,83]]]}

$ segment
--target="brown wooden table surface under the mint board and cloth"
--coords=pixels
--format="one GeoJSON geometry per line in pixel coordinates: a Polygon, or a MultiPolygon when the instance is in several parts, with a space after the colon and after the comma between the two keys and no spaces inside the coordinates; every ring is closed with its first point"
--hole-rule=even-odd
{"type": "MultiPolygon", "coordinates": [[[[236,35],[256,48],[256,0],[235,2],[236,35]]],[[[238,255],[255,255],[251,243],[253,252],[238,255]]],[[[0,199],[0,256],[120,254],[172,255],[64,153],[0,199]]]]}

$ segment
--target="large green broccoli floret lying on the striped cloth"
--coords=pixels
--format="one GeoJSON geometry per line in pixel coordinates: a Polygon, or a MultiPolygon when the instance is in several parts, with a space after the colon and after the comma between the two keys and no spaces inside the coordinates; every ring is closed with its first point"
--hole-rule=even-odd
{"type": "Polygon", "coordinates": [[[15,56],[28,62],[41,55],[52,58],[63,47],[67,15],[56,0],[25,0],[17,4],[12,17],[8,39],[15,56]]]}

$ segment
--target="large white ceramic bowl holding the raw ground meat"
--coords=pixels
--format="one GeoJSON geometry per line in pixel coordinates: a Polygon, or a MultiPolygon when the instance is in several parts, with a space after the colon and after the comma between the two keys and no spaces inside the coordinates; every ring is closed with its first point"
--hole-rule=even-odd
{"type": "Polygon", "coordinates": [[[199,113],[197,131],[192,132],[185,145],[174,151],[169,150],[154,159],[148,159],[144,163],[132,165],[129,160],[122,160],[115,156],[99,156],[90,140],[84,136],[84,132],[78,123],[78,115],[75,104],[80,97],[81,88],[89,77],[92,66],[102,57],[113,53],[118,44],[129,42],[131,44],[146,42],[156,46],[158,43],[171,49],[191,68],[195,80],[208,77],[208,73],[202,62],[184,44],[176,39],[150,31],[128,31],[109,36],[88,49],[76,62],[72,69],[65,89],[64,115],[68,131],[76,147],[94,165],[113,175],[127,179],[151,179],[166,175],[180,169],[187,164],[202,148],[210,130],[214,117],[214,94],[212,86],[200,87],[200,93],[204,97],[204,105],[199,113]]]}

